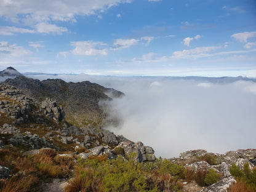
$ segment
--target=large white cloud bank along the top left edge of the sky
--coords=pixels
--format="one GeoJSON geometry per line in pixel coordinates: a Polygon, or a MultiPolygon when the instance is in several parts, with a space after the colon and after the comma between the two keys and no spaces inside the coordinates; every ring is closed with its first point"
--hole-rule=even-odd
{"type": "Polygon", "coordinates": [[[19,0],[0,1],[0,16],[10,18],[15,22],[26,22],[30,20],[32,23],[53,21],[75,21],[75,15],[93,15],[97,12],[104,12],[110,7],[117,6],[120,3],[129,3],[130,0],[73,0],[73,1],[34,1],[19,0]],[[25,15],[19,17],[18,15],[25,15]]]}

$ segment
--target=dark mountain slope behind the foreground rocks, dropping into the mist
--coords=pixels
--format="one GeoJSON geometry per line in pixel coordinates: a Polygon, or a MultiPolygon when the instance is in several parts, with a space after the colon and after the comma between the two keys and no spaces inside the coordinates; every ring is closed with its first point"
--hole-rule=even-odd
{"type": "Polygon", "coordinates": [[[66,112],[66,120],[77,126],[87,124],[100,124],[105,118],[102,108],[98,105],[100,100],[111,100],[111,97],[123,95],[118,90],[108,89],[89,81],[65,82],[61,79],[37,79],[17,76],[15,79],[6,79],[4,84],[20,89],[27,97],[42,101],[47,97],[56,100],[66,112]],[[108,94],[108,95],[106,95],[108,94]]]}

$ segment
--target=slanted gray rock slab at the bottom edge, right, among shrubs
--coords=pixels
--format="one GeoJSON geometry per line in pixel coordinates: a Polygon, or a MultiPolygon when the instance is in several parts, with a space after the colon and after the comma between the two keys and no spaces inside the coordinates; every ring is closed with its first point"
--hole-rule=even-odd
{"type": "Polygon", "coordinates": [[[236,183],[236,180],[233,176],[230,176],[228,178],[223,178],[200,192],[228,192],[228,188],[234,183],[236,183]]]}

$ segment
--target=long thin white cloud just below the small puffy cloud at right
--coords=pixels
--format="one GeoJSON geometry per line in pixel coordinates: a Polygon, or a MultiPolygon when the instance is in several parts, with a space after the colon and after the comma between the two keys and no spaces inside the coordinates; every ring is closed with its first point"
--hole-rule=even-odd
{"type": "Polygon", "coordinates": [[[178,50],[172,54],[173,58],[198,58],[198,57],[205,57],[204,55],[207,52],[211,52],[215,49],[220,49],[221,47],[212,46],[212,47],[196,47],[196,49],[190,50],[178,50]]]}

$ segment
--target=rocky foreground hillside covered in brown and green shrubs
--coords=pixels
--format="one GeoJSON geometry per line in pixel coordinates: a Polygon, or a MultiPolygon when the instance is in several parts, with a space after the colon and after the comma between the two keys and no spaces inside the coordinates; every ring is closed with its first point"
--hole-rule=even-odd
{"type": "Polygon", "coordinates": [[[241,181],[252,185],[249,192],[256,188],[255,149],[225,154],[194,150],[181,153],[179,158],[158,159],[151,146],[115,135],[95,122],[75,126],[66,119],[67,106],[58,105],[46,94],[38,96],[38,87],[46,82],[66,82],[38,81],[38,87],[28,94],[31,84],[29,89],[25,82],[18,86],[22,89],[10,85],[22,78],[0,83],[2,192],[233,192],[241,181]]]}

